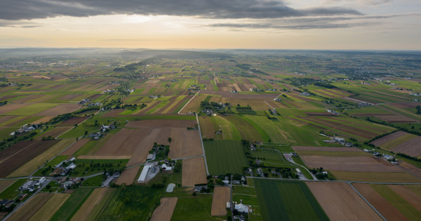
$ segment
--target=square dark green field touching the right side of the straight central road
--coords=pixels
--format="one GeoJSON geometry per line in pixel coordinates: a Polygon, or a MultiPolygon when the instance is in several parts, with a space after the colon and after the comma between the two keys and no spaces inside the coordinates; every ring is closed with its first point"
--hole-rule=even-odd
{"type": "Polygon", "coordinates": [[[243,173],[242,167],[248,165],[243,146],[236,140],[203,141],[208,161],[209,173],[243,173]]]}

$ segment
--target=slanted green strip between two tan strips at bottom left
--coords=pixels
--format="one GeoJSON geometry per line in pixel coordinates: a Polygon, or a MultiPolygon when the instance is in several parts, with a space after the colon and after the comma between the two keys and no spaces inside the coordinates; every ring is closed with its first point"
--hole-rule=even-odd
{"type": "Polygon", "coordinates": [[[51,221],[70,220],[72,216],[81,208],[82,204],[91,195],[92,188],[79,188],[63,203],[63,205],[51,217],[51,221]]]}

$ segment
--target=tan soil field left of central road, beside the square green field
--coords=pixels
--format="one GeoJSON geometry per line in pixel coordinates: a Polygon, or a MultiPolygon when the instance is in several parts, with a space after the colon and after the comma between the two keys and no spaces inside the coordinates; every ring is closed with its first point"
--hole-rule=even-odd
{"type": "Polygon", "coordinates": [[[180,159],[188,156],[203,154],[199,136],[199,130],[187,130],[187,128],[173,128],[171,130],[170,153],[171,159],[180,159]]]}

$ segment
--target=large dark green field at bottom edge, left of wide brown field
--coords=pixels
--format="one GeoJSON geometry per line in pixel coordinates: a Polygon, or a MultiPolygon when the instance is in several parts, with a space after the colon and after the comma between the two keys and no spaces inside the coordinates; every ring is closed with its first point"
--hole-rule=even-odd
{"type": "Polygon", "coordinates": [[[253,180],[262,220],[329,220],[305,182],[253,180]]]}

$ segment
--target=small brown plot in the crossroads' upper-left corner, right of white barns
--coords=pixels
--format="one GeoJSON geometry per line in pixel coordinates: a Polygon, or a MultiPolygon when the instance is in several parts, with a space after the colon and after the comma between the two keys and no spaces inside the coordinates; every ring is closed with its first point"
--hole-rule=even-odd
{"type": "Polygon", "coordinates": [[[206,169],[203,157],[182,160],[182,185],[192,187],[196,184],[206,183],[206,169]]]}

